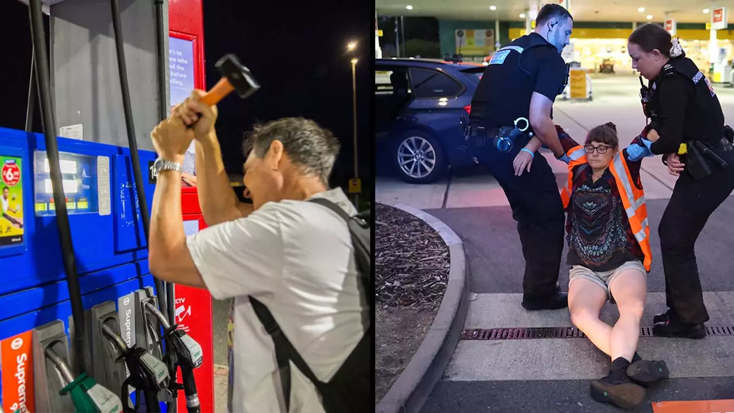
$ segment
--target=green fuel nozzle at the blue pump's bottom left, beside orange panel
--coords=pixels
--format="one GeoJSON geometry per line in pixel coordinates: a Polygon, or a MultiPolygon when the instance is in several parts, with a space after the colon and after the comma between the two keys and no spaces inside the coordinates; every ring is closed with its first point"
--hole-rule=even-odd
{"type": "Polygon", "coordinates": [[[102,387],[94,378],[81,373],[74,378],[66,360],[51,347],[46,348],[46,358],[51,360],[59,370],[66,386],[59,391],[60,395],[70,395],[77,413],[119,413],[123,403],[115,393],[102,387]]]}

